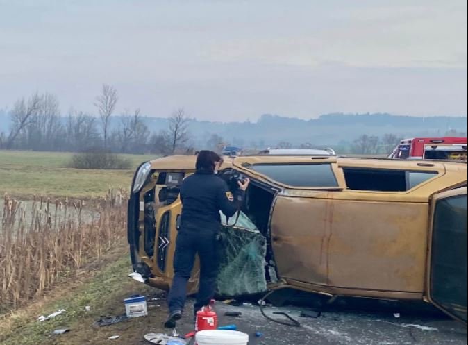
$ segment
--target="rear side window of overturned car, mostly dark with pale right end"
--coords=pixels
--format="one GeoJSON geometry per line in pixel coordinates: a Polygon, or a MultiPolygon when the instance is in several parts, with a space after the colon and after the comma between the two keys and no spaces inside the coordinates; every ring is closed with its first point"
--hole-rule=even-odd
{"type": "Polygon", "coordinates": [[[343,168],[349,190],[406,192],[430,180],[437,171],[343,168]]]}

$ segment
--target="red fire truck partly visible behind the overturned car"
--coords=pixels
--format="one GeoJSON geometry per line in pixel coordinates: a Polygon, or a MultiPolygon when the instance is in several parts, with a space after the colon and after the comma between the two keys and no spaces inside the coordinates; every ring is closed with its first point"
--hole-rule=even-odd
{"type": "Polygon", "coordinates": [[[417,137],[401,140],[393,159],[467,160],[466,137],[417,137]]]}

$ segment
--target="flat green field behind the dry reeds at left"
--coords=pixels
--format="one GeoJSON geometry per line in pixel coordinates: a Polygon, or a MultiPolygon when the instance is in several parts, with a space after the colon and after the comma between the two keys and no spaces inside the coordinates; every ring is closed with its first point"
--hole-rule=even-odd
{"type": "Polygon", "coordinates": [[[122,156],[131,160],[133,169],[71,169],[72,153],[0,151],[0,193],[88,198],[105,195],[109,186],[128,189],[137,166],[155,157],[122,156]]]}

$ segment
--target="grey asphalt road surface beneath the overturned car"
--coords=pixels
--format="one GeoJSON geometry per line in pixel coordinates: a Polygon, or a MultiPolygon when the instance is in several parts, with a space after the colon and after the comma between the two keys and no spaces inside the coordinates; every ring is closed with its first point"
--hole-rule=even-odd
{"type": "MultiPolygon", "coordinates": [[[[268,321],[258,306],[236,308],[217,303],[216,308],[219,315],[242,312],[239,318],[221,317],[220,324],[236,324],[250,335],[249,345],[467,345],[467,328],[444,317],[401,314],[396,318],[391,312],[333,311],[324,312],[319,319],[306,319],[299,317],[301,310],[296,308],[267,308],[267,314],[276,319],[281,317],[272,312],[287,312],[297,319],[301,327],[293,328],[268,321]],[[406,328],[408,324],[431,329],[406,328]],[[264,337],[255,337],[256,332],[264,337]]],[[[192,328],[188,317],[184,321],[185,326],[178,328],[181,333],[192,328]]]]}

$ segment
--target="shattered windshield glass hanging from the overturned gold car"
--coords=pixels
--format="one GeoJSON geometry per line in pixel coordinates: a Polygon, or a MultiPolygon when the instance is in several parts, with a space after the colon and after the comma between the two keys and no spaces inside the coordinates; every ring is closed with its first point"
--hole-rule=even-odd
{"type": "Polygon", "coordinates": [[[222,215],[222,255],[217,280],[219,296],[267,291],[267,239],[243,212],[226,220],[222,215]],[[234,225],[235,224],[235,225],[234,225]]]}

